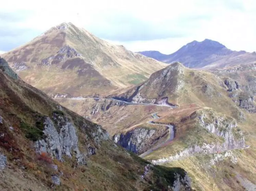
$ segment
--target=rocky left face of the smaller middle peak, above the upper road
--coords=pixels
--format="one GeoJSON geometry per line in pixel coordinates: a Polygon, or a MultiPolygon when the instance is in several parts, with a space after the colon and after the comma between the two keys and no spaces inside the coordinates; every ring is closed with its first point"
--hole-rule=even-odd
{"type": "MultiPolygon", "coordinates": [[[[149,79],[124,94],[112,96],[115,99],[135,104],[158,104],[172,106],[168,96],[177,94],[185,84],[185,67],[181,63],[173,63],[151,74],[149,79]]],[[[177,106],[177,105],[176,105],[177,106]]]]}

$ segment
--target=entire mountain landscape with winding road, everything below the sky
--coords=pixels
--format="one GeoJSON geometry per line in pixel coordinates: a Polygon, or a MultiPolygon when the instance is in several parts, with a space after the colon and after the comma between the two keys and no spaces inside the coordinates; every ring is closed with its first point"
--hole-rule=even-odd
{"type": "Polygon", "coordinates": [[[256,187],[255,52],[134,53],[62,23],[1,57],[1,190],[256,187]]]}

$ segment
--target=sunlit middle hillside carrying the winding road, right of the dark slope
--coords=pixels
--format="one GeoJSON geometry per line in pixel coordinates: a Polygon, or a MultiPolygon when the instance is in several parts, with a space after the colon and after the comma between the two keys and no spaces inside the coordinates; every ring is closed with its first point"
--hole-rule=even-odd
{"type": "Polygon", "coordinates": [[[253,64],[210,73],[173,63],[121,94],[56,100],[104,124],[125,149],[185,168],[196,190],[252,190],[255,71],[253,64]]]}

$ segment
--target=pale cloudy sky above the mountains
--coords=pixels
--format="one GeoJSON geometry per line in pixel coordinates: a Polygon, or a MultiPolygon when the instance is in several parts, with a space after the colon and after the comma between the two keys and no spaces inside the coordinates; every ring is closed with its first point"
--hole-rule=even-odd
{"type": "Polygon", "coordinates": [[[256,51],[255,0],[8,0],[0,10],[0,54],[63,22],[131,51],[170,54],[206,38],[256,51]]]}

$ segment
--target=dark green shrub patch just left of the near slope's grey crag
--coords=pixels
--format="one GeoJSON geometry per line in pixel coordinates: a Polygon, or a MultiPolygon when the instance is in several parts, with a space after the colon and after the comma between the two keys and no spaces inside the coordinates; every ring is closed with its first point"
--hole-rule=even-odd
{"type": "Polygon", "coordinates": [[[25,133],[25,137],[32,141],[37,141],[39,139],[45,138],[43,129],[41,129],[41,123],[37,123],[37,127],[32,127],[25,122],[21,122],[20,126],[22,131],[25,133]]]}

